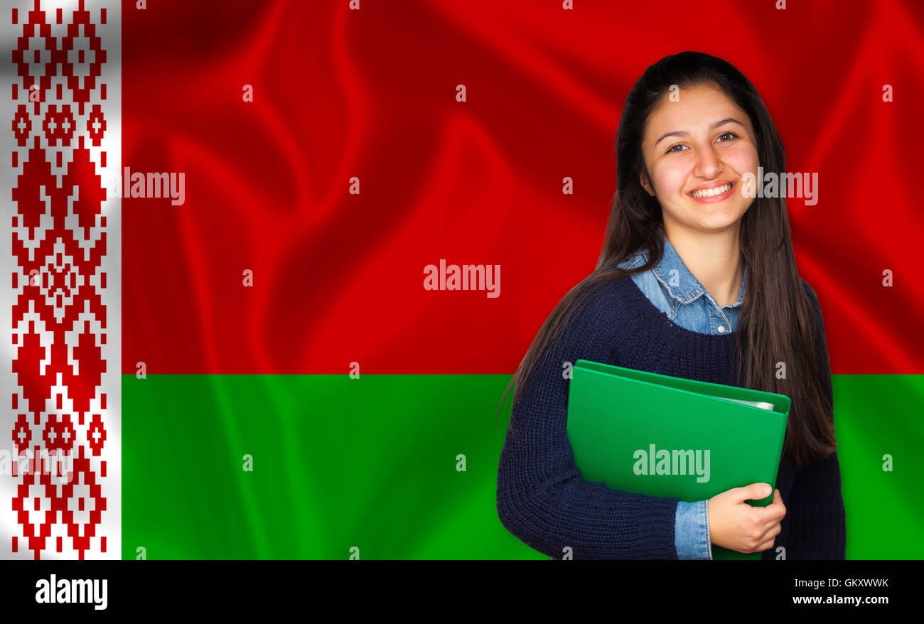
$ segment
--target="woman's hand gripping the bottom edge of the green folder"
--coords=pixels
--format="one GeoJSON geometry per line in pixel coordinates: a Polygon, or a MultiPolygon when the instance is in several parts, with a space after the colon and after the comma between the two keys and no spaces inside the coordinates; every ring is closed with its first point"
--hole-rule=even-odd
{"type": "Polygon", "coordinates": [[[739,553],[757,553],[772,547],[786,515],[779,490],[767,507],[751,507],[746,500],[760,500],[770,494],[767,483],[734,487],[712,496],[709,505],[709,539],[712,544],[739,553]]]}

